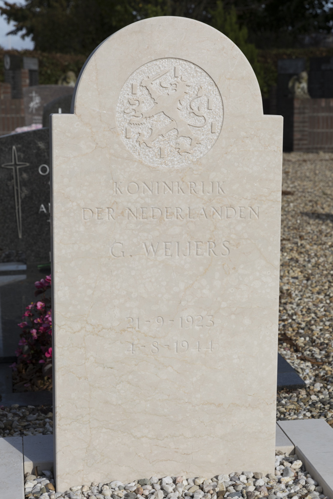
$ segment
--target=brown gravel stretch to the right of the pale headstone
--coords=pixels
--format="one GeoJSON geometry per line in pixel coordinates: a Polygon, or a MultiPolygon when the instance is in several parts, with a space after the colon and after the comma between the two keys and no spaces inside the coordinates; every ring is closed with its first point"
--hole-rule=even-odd
{"type": "Polygon", "coordinates": [[[333,154],[285,154],[279,349],[307,387],[278,393],[278,420],[333,426],[332,229],[333,154]]]}

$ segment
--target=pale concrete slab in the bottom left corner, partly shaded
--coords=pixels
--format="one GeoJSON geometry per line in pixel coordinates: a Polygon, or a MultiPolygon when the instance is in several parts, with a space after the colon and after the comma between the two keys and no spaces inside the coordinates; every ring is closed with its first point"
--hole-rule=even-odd
{"type": "Polygon", "coordinates": [[[22,437],[0,438],[0,498],[24,499],[22,437]]]}

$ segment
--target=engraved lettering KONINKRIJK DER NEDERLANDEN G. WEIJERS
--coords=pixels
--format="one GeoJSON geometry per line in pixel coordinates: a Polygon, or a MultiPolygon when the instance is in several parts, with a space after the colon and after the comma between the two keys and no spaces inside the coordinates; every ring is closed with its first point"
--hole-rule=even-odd
{"type": "MultiPolygon", "coordinates": [[[[183,222],[195,222],[213,220],[216,222],[234,220],[259,220],[259,206],[231,206],[221,204],[221,197],[226,196],[224,181],[117,181],[112,183],[109,206],[83,206],[81,207],[81,220],[84,223],[112,223],[118,219],[123,221],[142,222],[167,222],[174,221],[179,224],[183,222]],[[122,197],[128,195],[145,197],[146,206],[134,204],[122,205],[122,197]],[[161,201],[162,196],[168,201],[170,196],[175,196],[179,206],[161,206],[153,203],[155,196],[161,201]],[[193,196],[192,206],[184,206],[182,195],[193,196]],[[147,198],[148,196],[148,198],[147,198]],[[204,196],[212,197],[211,204],[207,205],[202,199],[204,196]],[[214,203],[214,198],[219,203],[214,203]],[[150,199],[149,199],[150,198],[150,199]],[[201,199],[201,203],[200,203],[201,199]],[[203,203],[204,202],[204,203],[203,203]],[[202,206],[205,204],[205,206],[202,206]]],[[[206,201],[206,200],[205,200],[206,201]]],[[[171,205],[172,203],[170,203],[171,205]]],[[[166,205],[166,204],[165,204],[166,205]]],[[[188,256],[228,256],[230,254],[230,241],[143,241],[142,249],[149,258],[164,257],[188,257],[188,256]]],[[[122,242],[115,241],[110,247],[110,255],[115,258],[124,257],[126,252],[122,242]]],[[[131,256],[131,255],[130,255],[131,256]]]]}

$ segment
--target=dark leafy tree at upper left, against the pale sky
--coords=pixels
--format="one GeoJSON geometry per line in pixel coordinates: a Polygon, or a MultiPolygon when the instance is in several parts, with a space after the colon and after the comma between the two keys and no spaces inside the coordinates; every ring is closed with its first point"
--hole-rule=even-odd
{"type": "Polygon", "coordinates": [[[88,54],[135,20],[130,5],[117,0],[5,1],[0,13],[14,22],[12,34],[31,35],[36,50],[60,53],[88,54]]]}

